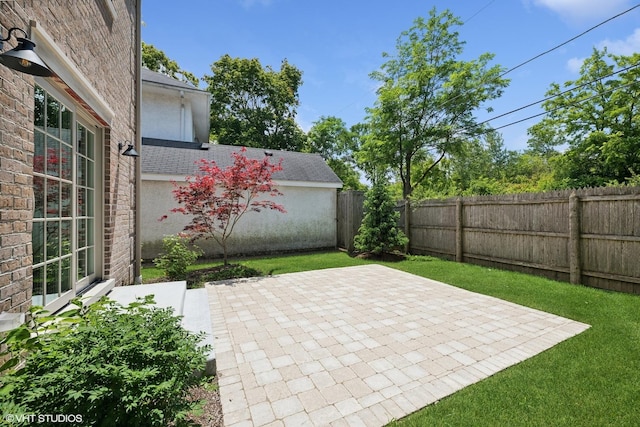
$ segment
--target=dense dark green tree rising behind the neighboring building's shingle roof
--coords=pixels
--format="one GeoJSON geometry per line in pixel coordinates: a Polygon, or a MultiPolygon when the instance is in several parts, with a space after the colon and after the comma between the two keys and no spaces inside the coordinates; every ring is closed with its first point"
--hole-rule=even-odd
{"type": "Polygon", "coordinates": [[[222,56],[204,76],[211,92],[211,135],[220,144],[300,151],[295,122],[302,72],[286,60],[280,70],[254,59],[222,56]]]}

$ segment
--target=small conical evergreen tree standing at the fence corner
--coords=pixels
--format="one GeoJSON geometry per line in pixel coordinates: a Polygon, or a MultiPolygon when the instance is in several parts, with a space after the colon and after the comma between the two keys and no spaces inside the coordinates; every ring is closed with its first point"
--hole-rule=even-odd
{"type": "Polygon", "coordinates": [[[398,228],[400,213],[395,210],[395,202],[381,180],[367,191],[364,212],[354,240],[358,251],[380,255],[401,248],[409,241],[398,228]]]}

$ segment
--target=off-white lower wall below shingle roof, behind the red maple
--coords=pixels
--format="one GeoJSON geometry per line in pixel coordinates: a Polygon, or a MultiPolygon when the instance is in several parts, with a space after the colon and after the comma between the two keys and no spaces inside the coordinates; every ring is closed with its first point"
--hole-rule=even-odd
{"type": "MultiPolygon", "coordinates": [[[[162,249],[162,237],[177,234],[188,217],[171,214],[176,206],[166,181],[142,182],[142,257],[151,260],[162,249]],[[168,219],[158,219],[167,214],[168,219]]],[[[279,187],[283,196],[274,198],[287,210],[249,212],[238,223],[229,239],[229,254],[257,254],[279,251],[324,249],[336,246],[336,189],[286,186],[279,187]]],[[[215,241],[200,241],[198,245],[208,256],[220,255],[215,241]]]]}

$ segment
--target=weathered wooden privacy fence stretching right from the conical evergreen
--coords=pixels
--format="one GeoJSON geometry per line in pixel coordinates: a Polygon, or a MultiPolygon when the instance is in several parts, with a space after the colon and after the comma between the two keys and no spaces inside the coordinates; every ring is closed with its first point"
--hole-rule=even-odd
{"type": "Polygon", "coordinates": [[[401,202],[399,208],[411,253],[640,294],[640,188],[401,202]]]}

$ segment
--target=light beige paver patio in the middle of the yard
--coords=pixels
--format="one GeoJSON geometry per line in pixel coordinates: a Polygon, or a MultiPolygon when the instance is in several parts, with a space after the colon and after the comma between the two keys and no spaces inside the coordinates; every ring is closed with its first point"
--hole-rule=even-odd
{"type": "Polygon", "coordinates": [[[207,286],[225,426],[382,426],[589,326],[379,265],[207,286]]]}

